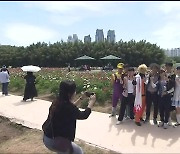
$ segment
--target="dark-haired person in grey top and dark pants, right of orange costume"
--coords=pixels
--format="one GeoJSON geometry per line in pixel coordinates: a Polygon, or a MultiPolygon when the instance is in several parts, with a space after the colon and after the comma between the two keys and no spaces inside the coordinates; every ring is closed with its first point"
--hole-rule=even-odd
{"type": "Polygon", "coordinates": [[[157,124],[157,115],[158,115],[158,94],[157,94],[157,84],[159,79],[159,69],[160,66],[156,63],[150,64],[151,72],[148,78],[147,91],[146,91],[146,120],[145,122],[149,122],[150,113],[151,113],[151,105],[153,103],[154,114],[153,114],[153,122],[157,124]]]}

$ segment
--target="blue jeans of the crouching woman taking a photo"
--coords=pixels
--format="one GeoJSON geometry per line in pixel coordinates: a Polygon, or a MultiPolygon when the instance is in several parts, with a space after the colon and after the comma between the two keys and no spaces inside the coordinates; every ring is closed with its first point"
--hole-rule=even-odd
{"type": "MultiPolygon", "coordinates": [[[[58,145],[58,143],[62,142],[62,138],[51,139],[51,138],[48,138],[46,135],[44,135],[43,142],[45,146],[51,151],[57,152],[58,154],[71,154],[70,148],[67,149],[66,151],[60,150],[61,149],[60,147],[64,147],[64,145],[58,145]]],[[[75,144],[74,142],[71,142],[71,147],[73,149],[72,154],[83,154],[81,147],[75,144]]]]}

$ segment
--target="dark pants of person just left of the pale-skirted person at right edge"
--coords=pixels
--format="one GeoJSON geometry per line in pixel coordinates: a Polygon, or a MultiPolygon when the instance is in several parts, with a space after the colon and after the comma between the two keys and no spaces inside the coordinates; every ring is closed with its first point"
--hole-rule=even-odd
{"type": "Polygon", "coordinates": [[[159,96],[160,120],[168,123],[171,110],[171,95],[159,96]]]}

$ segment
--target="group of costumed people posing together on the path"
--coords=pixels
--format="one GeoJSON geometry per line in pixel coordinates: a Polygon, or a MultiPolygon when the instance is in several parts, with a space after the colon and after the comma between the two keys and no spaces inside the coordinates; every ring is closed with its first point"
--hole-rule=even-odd
{"type": "Polygon", "coordinates": [[[137,126],[150,120],[153,104],[153,123],[156,125],[160,115],[159,127],[171,125],[171,112],[176,109],[177,122],[180,125],[180,66],[174,71],[173,63],[160,67],[152,63],[149,67],[139,65],[137,70],[123,63],[117,65],[118,71],[112,74],[113,96],[112,114],[116,115],[118,101],[121,101],[117,125],[124,118],[135,121],[137,126]],[[143,118],[146,112],[145,119],[143,118]]]}

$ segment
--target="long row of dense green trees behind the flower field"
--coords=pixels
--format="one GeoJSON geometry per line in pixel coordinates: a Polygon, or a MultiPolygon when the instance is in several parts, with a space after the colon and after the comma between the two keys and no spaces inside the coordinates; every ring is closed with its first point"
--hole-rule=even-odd
{"type": "Polygon", "coordinates": [[[68,63],[77,66],[82,63],[89,63],[91,66],[102,66],[107,61],[100,58],[107,55],[114,55],[121,58],[118,61],[110,61],[113,65],[117,62],[128,63],[131,66],[139,64],[149,65],[150,63],[162,64],[165,61],[165,54],[156,44],[141,40],[116,43],[82,41],[45,43],[38,42],[27,47],[16,47],[0,45],[0,65],[21,67],[23,65],[37,65],[40,67],[64,67],[68,63]],[[75,61],[76,58],[87,55],[95,58],[94,61],[75,61]]]}

